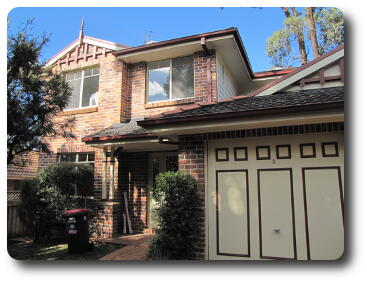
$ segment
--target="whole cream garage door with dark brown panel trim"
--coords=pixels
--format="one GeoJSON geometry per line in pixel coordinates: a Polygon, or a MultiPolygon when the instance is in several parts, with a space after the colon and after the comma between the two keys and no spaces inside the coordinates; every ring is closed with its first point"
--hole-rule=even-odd
{"type": "Polygon", "coordinates": [[[337,259],[343,134],[208,142],[209,259],[337,259]]]}

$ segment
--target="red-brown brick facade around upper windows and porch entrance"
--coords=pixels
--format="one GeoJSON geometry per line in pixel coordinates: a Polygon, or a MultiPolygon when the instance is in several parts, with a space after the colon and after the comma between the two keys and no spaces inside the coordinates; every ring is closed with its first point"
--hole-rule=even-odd
{"type": "MultiPolygon", "coordinates": [[[[103,152],[101,149],[87,146],[81,138],[95,133],[113,124],[128,121],[131,118],[156,115],[162,112],[179,109],[183,105],[216,100],[216,57],[215,52],[197,52],[194,54],[195,95],[175,101],[146,103],[147,64],[145,62],[126,64],[110,52],[96,48],[97,55],[92,56],[94,48],[83,44],[71,51],[57,62],[53,71],[67,72],[88,67],[99,66],[98,106],[84,109],[68,110],[60,113],[58,119],[74,117],[72,133],[75,139],[53,138],[49,140],[51,154],[41,154],[39,168],[57,162],[58,153],[88,152],[95,154],[94,185],[96,209],[93,222],[97,234],[104,237],[122,232],[122,213],[125,211],[123,192],[128,195],[128,208],[134,232],[143,232],[147,228],[148,196],[148,154],[122,153],[115,162],[115,195],[113,201],[102,198],[103,152]],[[87,55],[83,54],[87,48],[87,55]],[[92,54],[92,55],[91,55],[92,54]]],[[[197,146],[199,145],[191,145],[197,146]]],[[[185,164],[200,156],[203,149],[195,148],[195,153],[186,155],[187,148],[180,149],[180,169],[192,174],[204,187],[203,164],[185,164]],[[181,160],[182,159],[182,160],[181,160]]],[[[109,166],[109,162],[108,162],[109,166]]],[[[107,170],[109,171],[109,170],[107,170]]],[[[107,172],[107,179],[109,178],[107,172]]]]}

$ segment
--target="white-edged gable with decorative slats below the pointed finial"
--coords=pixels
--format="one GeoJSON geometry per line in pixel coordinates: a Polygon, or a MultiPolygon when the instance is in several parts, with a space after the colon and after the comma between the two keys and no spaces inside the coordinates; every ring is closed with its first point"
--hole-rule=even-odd
{"type": "Polygon", "coordinates": [[[45,68],[49,68],[56,63],[70,63],[83,58],[87,59],[88,57],[97,58],[106,53],[119,51],[125,48],[128,48],[128,46],[90,36],[83,36],[81,43],[79,38],[75,39],[48,60],[45,64],[45,68]]]}

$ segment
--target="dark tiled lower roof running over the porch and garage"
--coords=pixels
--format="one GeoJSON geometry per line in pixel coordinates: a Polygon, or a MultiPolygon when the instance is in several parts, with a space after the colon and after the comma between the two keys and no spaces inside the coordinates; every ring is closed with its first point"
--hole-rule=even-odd
{"type": "Polygon", "coordinates": [[[344,102],[344,87],[309,89],[292,92],[278,92],[266,96],[254,96],[236,98],[207,105],[191,105],[187,109],[163,113],[159,116],[132,119],[127,123],[117,123],[83,138],[83,141],[90,142],[96,140],[108,140],[119,138],[130,138],[137,136],[147,136],[150,132],[138,125],[138,122],[180,119],[185,117],[200,117],[205,115],[251,112],[266,109],[286,109],[289,107],[306,105],[323,105],[335,102],[344,102]]]}

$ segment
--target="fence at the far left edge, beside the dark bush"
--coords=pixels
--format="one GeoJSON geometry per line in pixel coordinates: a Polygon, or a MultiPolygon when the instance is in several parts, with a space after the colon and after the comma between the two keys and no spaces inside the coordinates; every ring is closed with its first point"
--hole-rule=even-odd
{"type": "Polygon", "coordinates": [[[24,226],[19,218],[18,204],[20,192],[8,192],[8,236],[20,235],[25,232],[24,226]]]}

